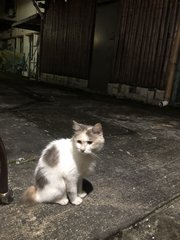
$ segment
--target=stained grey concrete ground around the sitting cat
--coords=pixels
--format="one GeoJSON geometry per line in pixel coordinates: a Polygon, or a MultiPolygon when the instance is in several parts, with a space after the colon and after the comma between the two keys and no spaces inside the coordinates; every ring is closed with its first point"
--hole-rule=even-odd
{"type": "Polygon", "coordinates": [[[0,239],[180,239],[179,109],[1,76],[0,135],[14,191],[14,201],[0,205],[0,239]],[[72,120],[104,129],[88,196],[80,206],[22,203],[40,152],[71,137],[72,120]]]}

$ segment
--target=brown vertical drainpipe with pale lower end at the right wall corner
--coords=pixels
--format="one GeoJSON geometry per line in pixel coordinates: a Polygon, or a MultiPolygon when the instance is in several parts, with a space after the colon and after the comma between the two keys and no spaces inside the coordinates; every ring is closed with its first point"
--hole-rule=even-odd
{"type": "MultiPolygon", "coordinates": [[[[180,20],[180,14],[179,14],[177,23],[179,23],[179,20],[180,20]]],[[[171,56],[168,64],[167,85],[166,85],[164,100],[159,103],[160,107],[164,107],[169,104],[172,90],[173,90],[174,75],[176,71],[176,64],[178,61],[179,51],[180,51],[180,24],[177,24],[176,35],[173,41],[171,56]]]]}

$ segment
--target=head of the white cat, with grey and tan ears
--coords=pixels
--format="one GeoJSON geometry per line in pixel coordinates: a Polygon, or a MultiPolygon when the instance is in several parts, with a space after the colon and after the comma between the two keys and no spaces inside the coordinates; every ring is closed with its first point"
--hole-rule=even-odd
{"type": "Polygon", "coordinates": [[[105,140],[100,123],[90,126],[73,121],[73,130],[74,146],[79,152],[91,154],[103,148],[105,140]]]}

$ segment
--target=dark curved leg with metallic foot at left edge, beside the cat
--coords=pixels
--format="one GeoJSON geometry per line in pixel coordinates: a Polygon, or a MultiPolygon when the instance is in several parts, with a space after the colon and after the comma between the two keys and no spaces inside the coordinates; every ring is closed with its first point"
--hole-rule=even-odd
{"type": "Polygon", "coordinates": [[[8,189],[8,164],[6,151],[0,138],[0,202],[8,204],[13,200],[13,192],[8,189]]]}

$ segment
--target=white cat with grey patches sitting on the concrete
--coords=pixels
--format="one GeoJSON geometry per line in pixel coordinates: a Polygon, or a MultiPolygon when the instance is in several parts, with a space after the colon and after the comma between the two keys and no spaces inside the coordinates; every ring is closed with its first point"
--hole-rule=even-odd
{"type": "Polygon", "coordinates": [[[72,138],[50,142],[42,151],[35,169],[35,186],[30,186],[23,199],[66,205],[82,203],[87,193],[83,178],[95,168],[96,152],[104,145],[102,125],[84,125],[73,121],[72,138]]]}

